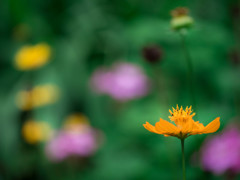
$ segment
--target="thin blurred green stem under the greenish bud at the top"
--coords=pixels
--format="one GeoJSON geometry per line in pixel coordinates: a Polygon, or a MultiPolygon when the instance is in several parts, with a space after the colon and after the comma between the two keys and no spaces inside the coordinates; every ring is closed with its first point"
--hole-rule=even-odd
{"type": "Polygon", "coordinates": [[[183,47],[184,56],[186,58],[186,63],[188,67],[188,83],[189,83],[189,90],[192,99],[192,106],[196,108],[196,99],[194,94],[194,83],[193,83],[193,65],[190,53],[187,48],[186,38],[184,32],[179,32],[183,47]]]}

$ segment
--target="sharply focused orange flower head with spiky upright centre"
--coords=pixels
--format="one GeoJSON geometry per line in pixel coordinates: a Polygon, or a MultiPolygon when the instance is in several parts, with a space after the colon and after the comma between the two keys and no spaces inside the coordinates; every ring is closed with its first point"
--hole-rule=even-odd
{"type": "Polygon", "coordinates": [[[216,118],[207,126],[204,126],[199,121],[194,121],[192,118],[195,116],[195,113],[192,113],[191,107],[186,107],[184,110],[182,107],[177,108],[173,111],[169,110],[171,116],[169,119],[173,121],[176,126],[166,120],[160,118],[160,121],[155,124],[155,126],[146,122],[143,126],[150,132],[162,134],[164,136],[175,136],[180,139],[185,139],[190,135],[195,134],[206,134],[214,133],[220,127],[220,118],[216,118]]]}

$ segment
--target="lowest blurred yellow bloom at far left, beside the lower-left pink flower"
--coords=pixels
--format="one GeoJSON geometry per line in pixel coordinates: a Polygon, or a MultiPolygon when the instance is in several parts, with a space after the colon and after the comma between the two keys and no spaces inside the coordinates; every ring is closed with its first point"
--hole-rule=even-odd
{"type": "Polygon", "coordinates": [[[45,122],[28,120],[22,127],[22,135],[26,142],[35,144],[50,138],[51,128],[45,122]]]}

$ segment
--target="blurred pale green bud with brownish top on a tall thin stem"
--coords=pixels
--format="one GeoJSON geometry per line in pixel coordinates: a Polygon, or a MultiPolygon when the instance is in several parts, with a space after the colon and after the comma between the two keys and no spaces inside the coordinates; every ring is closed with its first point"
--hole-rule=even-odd
{"type": "Polygon", "coordinates": [[[189,10],[184,7],[178,7],[171,11],[171,27],[175,30],[189,28],[193,24],[193,19],[188,15],[189,10]]]}

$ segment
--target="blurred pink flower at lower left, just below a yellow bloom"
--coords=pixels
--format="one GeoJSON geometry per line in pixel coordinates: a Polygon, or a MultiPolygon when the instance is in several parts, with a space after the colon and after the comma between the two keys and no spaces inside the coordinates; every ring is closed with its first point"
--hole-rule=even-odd
{"type": "Polygon", "coordinates": [[[46,153],[52,161],[62,161],[69,156],[87,157],[97,148],[95,132],[90,127],[82,131],[61,130],[48,142],[46,153]]]}

